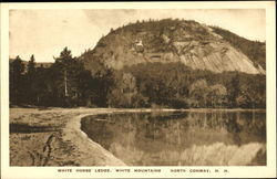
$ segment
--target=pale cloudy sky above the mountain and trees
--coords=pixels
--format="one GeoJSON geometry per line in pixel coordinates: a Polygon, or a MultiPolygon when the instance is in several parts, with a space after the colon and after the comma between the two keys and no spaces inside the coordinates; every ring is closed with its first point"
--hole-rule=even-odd
{"type": "Polygon", "coordinates": [[[263,9],[48,9],[10,10],[10,57],[19,55],[37,62],[54,62],[63,48],[73,56],[93,49],[110,29],[136,20],[178,18],[227,29],[249,40],[265,41],[266,15],[263,9]]]}

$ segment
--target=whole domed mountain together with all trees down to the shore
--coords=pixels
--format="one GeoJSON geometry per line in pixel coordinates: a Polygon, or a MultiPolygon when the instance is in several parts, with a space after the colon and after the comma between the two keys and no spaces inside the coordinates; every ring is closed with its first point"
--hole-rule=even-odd
{"type": "Polygon", "coordinates": [[[78,57],[64,48],[31,73],[27,62],[10,63],[10,103],[266,108],[265,45],[195,21],[131,23],[78,57]]]}

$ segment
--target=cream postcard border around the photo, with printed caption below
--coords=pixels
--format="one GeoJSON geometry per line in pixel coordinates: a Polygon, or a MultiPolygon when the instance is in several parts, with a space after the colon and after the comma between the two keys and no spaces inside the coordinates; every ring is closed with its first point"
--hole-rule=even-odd
{"type": "MultiPolygon", "coordinates": [[[[1,177],[2,178],[235,178],[276,177],[276,10],[275,1],[238,2],[71,2],[71,3],[2,3],[1,4],[1,177]],[[61,168],[76,167],[9,167],[9,10],[10,9],[266,9],[266,55],[267,55],[267,166],[266,167],[127,167],[158,168],[161,173],[65,173],[61,168]],[[183,168],[187,172],[168,172],[170,168],[183,168]],[[189,169],[228,169],[229,172],[191,173],[189,169]]],[[[78,167],[80,168],[80,167],[78,167]]],[[[82,167],[94,170],[126,167],[82,167]]]]}

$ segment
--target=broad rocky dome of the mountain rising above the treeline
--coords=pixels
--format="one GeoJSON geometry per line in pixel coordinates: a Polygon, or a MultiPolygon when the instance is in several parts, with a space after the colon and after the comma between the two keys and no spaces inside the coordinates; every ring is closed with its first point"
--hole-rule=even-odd
{"type": "Polygon", "coordinates": [[[266,73],[212,28],[195,21],[161,20],[119,28],[99,41],[92,56],[116,70],[146,62],[182,62],[214,73],[266,73]]]}

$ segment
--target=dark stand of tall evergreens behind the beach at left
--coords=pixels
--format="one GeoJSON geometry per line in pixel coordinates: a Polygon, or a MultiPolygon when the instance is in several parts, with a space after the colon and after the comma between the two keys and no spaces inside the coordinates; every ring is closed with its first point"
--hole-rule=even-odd
{"type": "Polygon", "coordinates": [[[50,67],[35,67],[33,55],[24,66],[17,56],[10,62],[10,105],[106,106],[112,76],[109,69],[92,75],[66,48],[50,67]]]}

